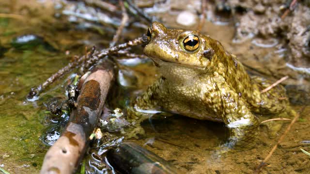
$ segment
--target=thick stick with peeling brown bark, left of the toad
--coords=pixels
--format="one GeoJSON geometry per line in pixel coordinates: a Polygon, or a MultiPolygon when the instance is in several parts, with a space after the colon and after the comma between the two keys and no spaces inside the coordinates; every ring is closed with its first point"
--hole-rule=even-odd
{"type": "Polygon", "coordinates": [[[113,81],[113,63],[106,59],[85,79],[69,123],[45,155],[41,174],[72,174],[88,146],[113,81]]]}

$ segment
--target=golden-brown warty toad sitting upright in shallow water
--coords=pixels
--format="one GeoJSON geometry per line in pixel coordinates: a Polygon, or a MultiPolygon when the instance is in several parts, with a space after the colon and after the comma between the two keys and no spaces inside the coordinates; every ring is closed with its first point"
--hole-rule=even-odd
{"type": "Polygon", "coordinates": [[[255,145],[259,134],[260,121],[255,114],[295,114],[284,87],[261,93],[271,83],[250,77],[236,56],[217,40],[195,30],[167,29],[158,22],[147,36],[150,42],[144,53],[161,76],[135,99],[135,114],[128,114],[132,122],[146,118],[138,112],[150,115],[158,111],[223,122],[230,137],[221,146],[244,148],[255,145]]]}

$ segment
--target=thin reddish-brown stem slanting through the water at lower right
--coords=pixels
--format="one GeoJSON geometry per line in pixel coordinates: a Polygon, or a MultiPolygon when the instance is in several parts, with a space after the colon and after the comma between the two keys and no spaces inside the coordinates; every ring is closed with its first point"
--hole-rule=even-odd
{"type": "Polygon", "coordinates": [[[291,111],[294,113],[294,119],[291,121],[290,125],[286,128],[286,130],[284,131],[284,133],[281,135],[278,143],[276,145],[273,146],[273,148],[271,149],[271,151],[269,152],[269,154],[267,155],[267,157],[263,160],[263,162],[256,168],[256,170],[254,171],[254,174],[259,174],[263,167],[266,165],[267,160],[269,160],[269,158],[271,157],[271,155],[275,152],[275,150],[277,149],[278,145],[283,141],[284,137],[286,136],[286,134],[290,131],[291,127],[293,126],[293,124],[295,123],[295,121],[298,119],[299,114],[295,113],[294,111],[291,111]]]}

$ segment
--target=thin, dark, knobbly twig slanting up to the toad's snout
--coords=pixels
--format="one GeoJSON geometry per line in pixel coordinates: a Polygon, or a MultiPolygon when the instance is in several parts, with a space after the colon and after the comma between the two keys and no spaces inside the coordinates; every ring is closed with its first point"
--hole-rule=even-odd
{"type": "Polygon", "coordinates": [[[127,43],[122,43],[113,47],[109,47],[107,49],[103,49],[101,51],[97,51],[93,47],[92,51],[88,52],[85,56],[77,58],[74,62],[69,63],[67,66],[60,69],[57,73],[54,73],[43,84],[39,85],[38,87],[32,87],[27,95],[27,99],[32,99],[33,97],[38,96],[47,86],[49,86],[54,81],[59,79],[63,74],[69,72],[77,66],[82,66],[82,71],[85,71],[93,64],[95,64],[99,59],[104,58],[105,56],[118,54],[118,51],[122,49],[146,43],[147,41],[147,36],[142,36],[127,43]],[[85,61],[86,64],[83,64],[83,62],[85,61]]]}

